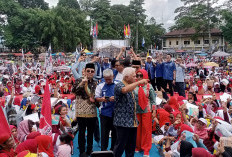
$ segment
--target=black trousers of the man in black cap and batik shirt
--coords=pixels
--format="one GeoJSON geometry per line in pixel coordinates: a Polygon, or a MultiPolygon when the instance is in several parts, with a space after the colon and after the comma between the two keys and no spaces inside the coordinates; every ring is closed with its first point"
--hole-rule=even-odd
{"type": "Polygon", "coordinates": [[[80,154],[85,152],[85,131],[87,128],[87,153],[91,153],[93,149],[93,133],[96,126],[97,118],[82,118],[77,117],[79,134],[78,134],[78,145],[80,154]]]}

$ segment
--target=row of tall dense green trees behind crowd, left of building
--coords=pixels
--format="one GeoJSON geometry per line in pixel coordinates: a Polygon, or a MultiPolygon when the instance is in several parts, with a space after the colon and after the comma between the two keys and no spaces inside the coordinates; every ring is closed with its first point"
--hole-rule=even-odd
{"type": "Polygon", "coordinates": [[[79,43],[91,47],[91,23],[98,23],[99,39],[124,39],[124,25],[129,24],[132,46],[136,45],[138,30],[139,49],[143,37],[147,47],[161,47],[165,29],[154,18],[153,22],[146,21],[143,3],[132,0],[126,6],[111,5],[109,0],[59,0],[56,7],[48,8],[44,0],[0,0],[0,14],[5,17],[0,19],[0,32],[11,49],[35,51],[51,43],[54,51],[70,52],[79,43]]]}

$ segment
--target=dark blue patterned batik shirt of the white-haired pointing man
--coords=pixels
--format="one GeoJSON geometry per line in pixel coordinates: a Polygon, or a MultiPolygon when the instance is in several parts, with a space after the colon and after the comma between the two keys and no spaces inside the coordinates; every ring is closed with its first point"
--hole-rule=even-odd
{"type": "Polygon", "coordinates": [[[123,94],[122,88],[125,87],[123,82],[116,84],[114,88],[114,121],[115,126],[120,127],[137,127],[136,104],[134,92],[123,94]]]}

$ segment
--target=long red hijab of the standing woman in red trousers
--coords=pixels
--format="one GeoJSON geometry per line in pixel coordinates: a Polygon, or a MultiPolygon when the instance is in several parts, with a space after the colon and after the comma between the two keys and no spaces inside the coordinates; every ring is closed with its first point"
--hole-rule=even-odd
{"type": "MultiPolygon", "coordinates": [[[[136,72],[136,74],[139,72],[143,74],[143,79],[148,79],[148,73],[146,70],[140,69],[136,72]]],[[[146,94],[143,90],[143,86],[144,86],[144,84],[139,84],[138,101],[139,101],[139,106],[141,107],[141,109],[145,110],[145,108],[148,105],[148,96],[149,95],[146,96],[146,94]]],[[[149,91],[147,91],[146,93],[149,93],[149,91]]]]}

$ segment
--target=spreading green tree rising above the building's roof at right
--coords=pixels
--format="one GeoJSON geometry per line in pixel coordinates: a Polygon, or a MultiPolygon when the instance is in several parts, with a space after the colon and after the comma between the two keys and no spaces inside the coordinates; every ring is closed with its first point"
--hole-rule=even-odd
{"type": "Polygon", "coordinates": [[[218,8],[213,7],[216,0],[181,0],[183,6],[177,8],[175,13],[176,23],[170,30],[194,28],[196,34],[192,37],[197,39],[200,34],[209,34],[212,28],[215,28],[219,22],[218,8]]]}

